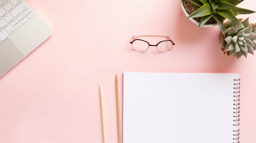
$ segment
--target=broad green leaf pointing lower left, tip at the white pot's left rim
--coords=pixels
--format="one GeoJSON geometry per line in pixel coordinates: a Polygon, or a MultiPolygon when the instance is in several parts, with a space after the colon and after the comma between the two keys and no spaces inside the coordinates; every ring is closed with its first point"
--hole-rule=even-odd
{"type": "Polygon", "coordinates": [[[211,5],[209,3],[206,3],[187,18],[202,17],[209,14],[213,14],[213,10],[211,8],[211,5]]]}

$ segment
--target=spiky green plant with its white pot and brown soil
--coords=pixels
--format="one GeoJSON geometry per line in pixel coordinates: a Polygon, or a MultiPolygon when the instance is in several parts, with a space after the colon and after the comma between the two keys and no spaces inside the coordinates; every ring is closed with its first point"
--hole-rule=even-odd
{"type": "Polygon", "coordinates": [[[242,1],[244,0],[181,0],[180,2],[184,14],[197,24],[198,28],[219,25],[223,32],[225,19],[241,23],[236,15],[254,13],[252,10],[236,7],[242,1]]]}

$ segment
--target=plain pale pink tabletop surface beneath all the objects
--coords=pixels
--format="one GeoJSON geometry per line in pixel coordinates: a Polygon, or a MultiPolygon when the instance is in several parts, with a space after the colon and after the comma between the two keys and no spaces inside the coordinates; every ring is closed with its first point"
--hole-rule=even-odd
{"type": "Polygon", "coordinates": [[[180,0],[27,1],[53,35],[0,79],[0,143],[101,143],[100,84],[106,143],[117,143],[114,85],[117,73],[122,87],[123,72],[239,72],[240,141],[255,141],[256,57],[227,58],[219,27],[197,30],[180,0]],[[167,34],[176,45],[142,54],[129,43],[137,34],[167,34]]]}

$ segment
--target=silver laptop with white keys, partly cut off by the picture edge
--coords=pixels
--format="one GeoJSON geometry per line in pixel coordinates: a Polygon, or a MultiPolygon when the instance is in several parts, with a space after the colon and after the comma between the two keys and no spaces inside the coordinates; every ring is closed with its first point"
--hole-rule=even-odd
{"type": "Polygon", "coordinates": [[[0,77],[51,33],[25,0],[0,0],[0,77]]]}

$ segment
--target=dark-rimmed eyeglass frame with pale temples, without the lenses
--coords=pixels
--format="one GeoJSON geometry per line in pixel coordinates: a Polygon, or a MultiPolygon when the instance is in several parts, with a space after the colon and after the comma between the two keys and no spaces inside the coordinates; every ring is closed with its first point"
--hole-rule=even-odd
{"type": "MultiPolygon", "coordinates": [[[[157,50],[158,52],[162,52],[162,51],[159,51],[158,48],[157,48],[158,44],[160,44],[160,43],[162,43],[162,42],[171,41],[171,42],[172,42],[172,45],[175,45],[175,43],[172,41],[172,39],[170,38],[169,35],[133,35],[133,37],[131,37],[130,43],[133,44],[133,42],[136,41],[136,40],[144,41],[144,42],[148,43],[149,46],[156,46],[156,50],[157,50]],[[145,41],[145,40],[142,40],[142,39],[137,39],[137,38],[139,38],[139,37],[165,37],[165,38],[168,39],[168,40],[159,41],[159,42],[157,42],[155,45],[152,45],[152,44],[149,44],[148,41],[145,41]]],[[[149,46],[148,46],[147,50],[149,50],[149,46]]],[[[131,47],[133,48],[133,46],[131,46],[131,47]]],[[[171,49],[172,49],[172,48],[170,48],[169,50],[171,50],[171,49]]],[[[135,49],[133,48],[133,50],[135,50],[135,49]]],[[[135,51],[137,51],[137,52],[146,52],[147,50],[145,50],[145,51],[135,50],[135,51]]],[[[169,50],[167,50],[167,51],[165,51],[165,52],[168,52],[169,50]]]]}

